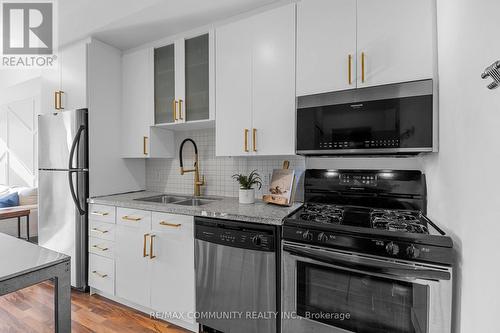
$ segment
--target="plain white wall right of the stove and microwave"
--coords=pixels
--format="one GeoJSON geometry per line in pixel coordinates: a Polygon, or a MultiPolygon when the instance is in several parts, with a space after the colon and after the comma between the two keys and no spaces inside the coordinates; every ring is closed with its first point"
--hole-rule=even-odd
{"type": "Polygon", "coordinates": [[[499,13],[498,0],[438,0],[440,151],[424,166],[429,215],[459,239],[463,333],[499,330],[500,89],[480,77],[500,60],[499,13]]]}

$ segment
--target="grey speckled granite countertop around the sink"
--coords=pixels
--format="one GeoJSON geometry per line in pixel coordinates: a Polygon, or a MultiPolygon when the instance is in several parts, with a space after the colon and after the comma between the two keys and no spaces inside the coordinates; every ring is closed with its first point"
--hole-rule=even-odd
{"type": "MultiPolygon", "coordinates": [[[[273,225],[282,225],[283,219],[302,205],[302,203],[297,202],[291,207],[281,207],[265,203],[261,200],[256,200],[255,204],[242,205],[238,202],[238,198],[230,197],[217,197],[220,200],[197,207],[134,200],[162,194],[164,193],[150,191],[131,192],[90,198],[89,203],[273,225]]],[[[168,193],[168,195],[177,194],[168,193]]],[[[183,194],[180,195],[186,196],[183,194]]]]}

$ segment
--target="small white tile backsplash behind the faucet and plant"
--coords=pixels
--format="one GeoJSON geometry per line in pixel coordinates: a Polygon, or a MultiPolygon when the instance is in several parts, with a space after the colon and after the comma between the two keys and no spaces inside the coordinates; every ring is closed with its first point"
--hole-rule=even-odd
{"type": "MultiPolygon", "coordinates": [[[[148,159],[146,161],[146,189],[155,192],[193,193],[192,173],[181,175],[179,172],[179,148],[181,142],[191,138],[198,146],[200,173],[205,176],[206,185],[202,187],[204,195],[238,196],[238,184],[231,178],[236,173],[249,173],[257,170],[263,180],[261,190],[256,190],[256,196],[262,197],[268,193],[269,182],[273,169],[281,168],[284,160],[290,161],[290,168],[302,173],[305,169],[305,159],[301,156],[249,156],[249,157],[216,157],[215,129],[185,131],[175,133],[175,158],[148,159]]],[[[186,143],[183,152],[184,166],[193,165],[194,150],[186,143]]],[[[297,200],[301,200],[299,187],[297,200]]]]}

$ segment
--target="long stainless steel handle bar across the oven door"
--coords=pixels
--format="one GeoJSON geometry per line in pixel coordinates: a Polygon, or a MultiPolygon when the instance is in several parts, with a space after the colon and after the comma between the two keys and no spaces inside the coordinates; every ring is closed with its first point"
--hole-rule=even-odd
{"type": "Polygon", "coordinates": [[[406,280],[451,280],[450,272],[437,269],[414,267],[391,262],[378,262],[376,260],[350,254],[324,250],[317,251],[287,244],[283,245],[283,250],[298,257],[305,257],[325,264],[366,273],[398,277],[406,280]]]}

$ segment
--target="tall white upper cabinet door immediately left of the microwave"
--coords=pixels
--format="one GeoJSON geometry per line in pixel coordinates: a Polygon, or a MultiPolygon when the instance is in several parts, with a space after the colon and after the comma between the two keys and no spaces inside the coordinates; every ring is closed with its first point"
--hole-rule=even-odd
{"type": "Polygon", "coordinates": [[[257,155],[295,154],[295,6],[255,16],[252,147],[257,155]]]}

